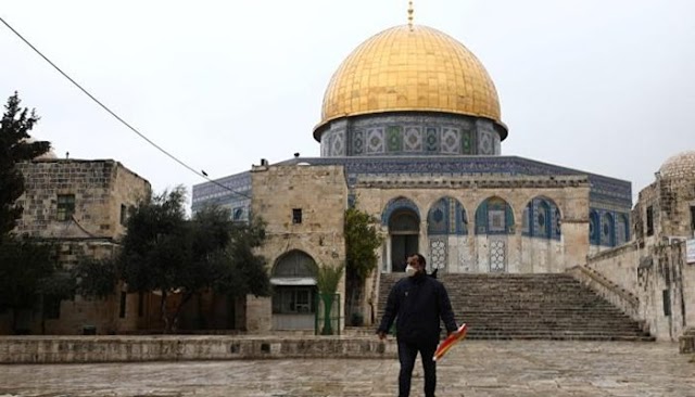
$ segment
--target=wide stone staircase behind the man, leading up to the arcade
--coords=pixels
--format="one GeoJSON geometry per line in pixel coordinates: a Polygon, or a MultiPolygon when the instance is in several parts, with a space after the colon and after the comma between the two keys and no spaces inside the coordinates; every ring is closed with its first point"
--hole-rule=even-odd
{"type": "MultiPolygon", "coordinates": [[[[403,273],[381,274],[379,317],[403,273]]],[[[456,321],[475,340],[655,341],[570,274],[440,274],[456,321]]],[[[442,326],[443,328],[443,326],[442,326]]]]}

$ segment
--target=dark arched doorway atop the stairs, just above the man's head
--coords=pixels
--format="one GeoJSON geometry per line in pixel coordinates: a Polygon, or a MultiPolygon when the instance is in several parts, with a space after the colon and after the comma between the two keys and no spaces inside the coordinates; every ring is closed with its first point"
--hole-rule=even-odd
{"type": "Polygon", "coordinates": [[[410,208],[394,210],[389,218],[391,238],[391,271],[405,271],[408,255],[417,253],[420,236],[420,218],[410,208]]]}

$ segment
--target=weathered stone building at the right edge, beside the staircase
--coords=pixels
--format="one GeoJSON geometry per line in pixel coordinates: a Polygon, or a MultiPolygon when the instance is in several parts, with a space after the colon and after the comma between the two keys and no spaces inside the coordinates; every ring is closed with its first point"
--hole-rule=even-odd
{"type": "Polygon", "coordinates": [[[590,256],[587,268],[628,292],[627,309],[660,340],[695,329],[695,151],[667,159],[632,210],[634,239],[590,256]],[[691,252],[691,256],[695,253],[691,252]]]}

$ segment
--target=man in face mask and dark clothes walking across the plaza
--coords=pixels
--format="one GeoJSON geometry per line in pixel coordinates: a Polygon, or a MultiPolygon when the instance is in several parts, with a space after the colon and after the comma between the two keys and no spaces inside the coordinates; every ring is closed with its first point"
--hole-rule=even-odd
{"type": "Polygon", "coordinates": [[[379,338],[386,338],[395,320],[401,361],[399,397],[410,395],[410,377],[418,351],[425,371],[425,396],[434,397],[437,363],[432,357],[439,344],[440,319],[448,334],[457,329],[446,289],[441,282],[427,276],[425,265],[425,257],[420,254],[408,257],[405,268],[408,277],[391,289],[377,330],[379,338]]]}

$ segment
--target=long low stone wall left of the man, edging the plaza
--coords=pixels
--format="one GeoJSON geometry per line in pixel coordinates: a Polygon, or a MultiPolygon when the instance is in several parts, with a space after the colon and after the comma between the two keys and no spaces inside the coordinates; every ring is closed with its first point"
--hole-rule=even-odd
{"type": "Polygon", "coordinates": [[[374,336],[15,336],[0,341],[3,364],[395,357],[395,341],[383,343],[374,336]]]}

